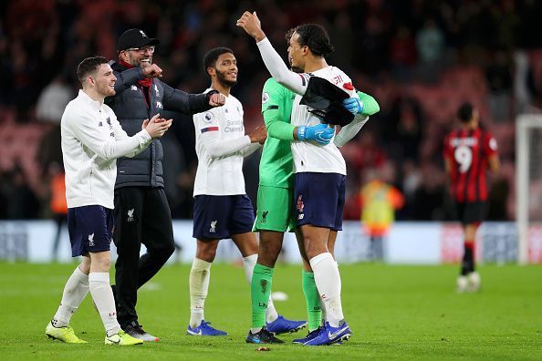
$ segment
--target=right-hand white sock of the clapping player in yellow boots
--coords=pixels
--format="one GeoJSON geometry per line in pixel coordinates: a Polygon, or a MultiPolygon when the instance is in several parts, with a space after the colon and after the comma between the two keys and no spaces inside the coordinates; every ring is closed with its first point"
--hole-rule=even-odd
{"type": "Polygon", "coordinates": [[[89,274],[89,288],[107,335],[118,334],[120,325],[117,321],[115,298],[109,285],[109,273],[91,272],[89,274]]]}

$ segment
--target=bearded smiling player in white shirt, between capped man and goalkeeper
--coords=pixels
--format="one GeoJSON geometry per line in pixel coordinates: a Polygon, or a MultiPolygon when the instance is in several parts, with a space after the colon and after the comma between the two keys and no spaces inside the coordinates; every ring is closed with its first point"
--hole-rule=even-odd
{"type": "MultiPolygon", "coordinates": [[[[193,116],[196,134],[198,169],[194,182],[193,237],[197,248],[190,272],[191,317],[188,335],[227,335],[204,321],[203,307],[211,264],[218,242],[231,238],[243,255],[245,275],[250,283],[257,260],[258,246],[252,226],[255,221],[252,203],[245,193],[243,159],[266,141],[264,126],[245,135],[243,106],[231,88],[237,82],[237,61],[227,47],[216,47],[203,59],[205,72],[211,77],[211,88],[224,94],[223,107],[193,116]]],[[[276,313],[269,300],[267,327],[277,333],[294,331],[305,321],[289,321],[276,313]]]]}

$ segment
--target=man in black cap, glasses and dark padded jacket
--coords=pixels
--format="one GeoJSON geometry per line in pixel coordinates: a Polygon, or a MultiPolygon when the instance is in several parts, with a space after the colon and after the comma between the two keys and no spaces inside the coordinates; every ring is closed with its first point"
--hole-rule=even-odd
{"type": "MultiPolygon", "coordinates": [[[[140,29],[122,33],[119,60],[111,61],[117,82],[116,95],[106,99],[128,135],[141,130],[144,119],[164,109],[184,114],[200,113],[224,105],[218,92],[187,94],[164,84],[162,69],[152,64],[159,40],[140,29]]],[[[174,251],[172,216],[163,190],[162,144],[151,146],[134,158],[117,161],[115,185],[115,232],[118,259],[115,264],[117,318],[124,331],[143,341],[159,339],[145,332],[135,310],[137,290],[149,281],[174,251]],[[141,243],[147,253],[140,258],[141,243]]]]}

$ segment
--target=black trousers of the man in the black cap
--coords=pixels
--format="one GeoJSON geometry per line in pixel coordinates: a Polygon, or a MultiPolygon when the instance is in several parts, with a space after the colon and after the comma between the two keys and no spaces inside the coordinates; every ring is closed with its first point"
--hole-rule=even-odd
{"type": "Polygon", "coordinates": [[[122,328],[138,321],[138,289],[156,274],[175,250],[172,214],[162,188],[115,190],[115,299],[122,328]],[[140,258],[141,243],[147,253],[140,258]]]}

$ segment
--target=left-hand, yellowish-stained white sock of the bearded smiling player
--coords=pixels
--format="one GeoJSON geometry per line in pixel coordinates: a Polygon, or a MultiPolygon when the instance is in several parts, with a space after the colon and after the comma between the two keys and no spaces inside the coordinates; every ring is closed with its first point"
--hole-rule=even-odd
{"type": "Polygon", "coordinates": [[[209,280],[211,279],[211,264],[199,258],[193,258],[189,278],[190,326],[192,328],[201,325],[203,321],[203,308],[209,290],[209,280]]]}

